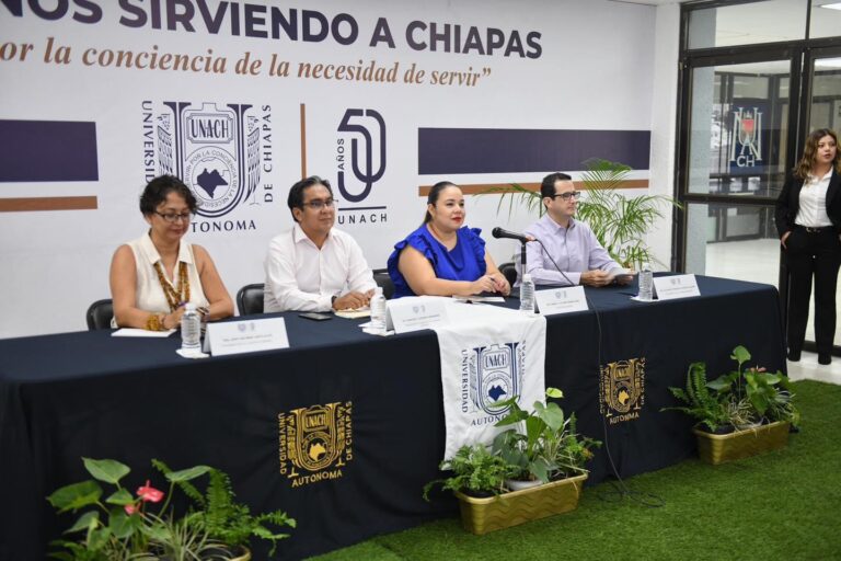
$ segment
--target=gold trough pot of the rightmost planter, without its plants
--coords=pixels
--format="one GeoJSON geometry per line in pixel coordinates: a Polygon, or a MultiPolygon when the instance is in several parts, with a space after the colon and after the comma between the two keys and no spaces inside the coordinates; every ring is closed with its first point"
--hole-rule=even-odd
{"type": "Polygon", "coordinates": [[[714,466],[783,448],[788,443],[788,422],[777,421],[730,434],[710,434],[694,428],[698,455],[714,466]]]}

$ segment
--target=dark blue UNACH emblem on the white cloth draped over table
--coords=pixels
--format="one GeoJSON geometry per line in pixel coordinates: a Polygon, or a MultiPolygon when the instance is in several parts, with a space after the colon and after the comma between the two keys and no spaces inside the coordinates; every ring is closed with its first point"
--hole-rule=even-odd
{"type": "Polygon", "coordinates": [[[491,415],[505,413],[510,407],[499,403],[520,394],[522,368],[520,343],[479,346],[471,351],[470,397],[473,404],[491,415]]]}

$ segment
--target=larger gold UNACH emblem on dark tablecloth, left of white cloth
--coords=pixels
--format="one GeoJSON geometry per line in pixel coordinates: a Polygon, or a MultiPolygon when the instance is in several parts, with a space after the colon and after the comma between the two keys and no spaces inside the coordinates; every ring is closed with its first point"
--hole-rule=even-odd
{"type": "Polygon", "coordinates": [[[280,473],[292,486],[343,476],[353,459],[353,404],[327,403],[278,415],[280,473]]]}

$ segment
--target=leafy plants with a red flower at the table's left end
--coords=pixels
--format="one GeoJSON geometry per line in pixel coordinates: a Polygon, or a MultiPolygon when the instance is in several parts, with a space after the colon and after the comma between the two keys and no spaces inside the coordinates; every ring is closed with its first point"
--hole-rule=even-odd
{"type": "Polygon", "coordinates": [[[47,497],[59,513],[85,510],[65,534],[77,534],[76,540],[51,542],[58,548],[50,557],[64,560],[223,560],[247,561],[252,537],[272,541],[288,534],[278,534],[270,526],[293,528],[296,522],[281,511],[252,515],[249,507],[234,502],[229,477],[208,466],[172,471],[165,463],[152,465],[169,482],[169,491],[150,484],[133,495],[120,481],[128,476],[128,466],[110,459],[82,458],[91,480],[66,485],[47,497]],[[193,481],[206,476],[206,490],[200,492],[193,481]],[[114,491],[104,496],[99,482],[114,491]],[[176,514],[171,505],[178,488],[192,506],[176,514]],[[160,506],[155,506],[160,504],[160,506]]]}

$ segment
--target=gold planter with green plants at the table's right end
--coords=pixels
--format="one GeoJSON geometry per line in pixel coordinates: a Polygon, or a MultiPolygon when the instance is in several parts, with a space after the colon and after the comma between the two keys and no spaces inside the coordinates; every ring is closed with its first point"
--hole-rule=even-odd
{"type": "Polygon", "coordinates": [[[666,410],[698,420],[693,428],[701,459],[723,463],[782,448],[792,425],[799,423],[788,378],[781,371],[744,365],[750,353],[739,345],[730,358],[736,369],[707,381],[706,365],[692,363],[686,388],[669,388],[684,404],[666,410]]]}

